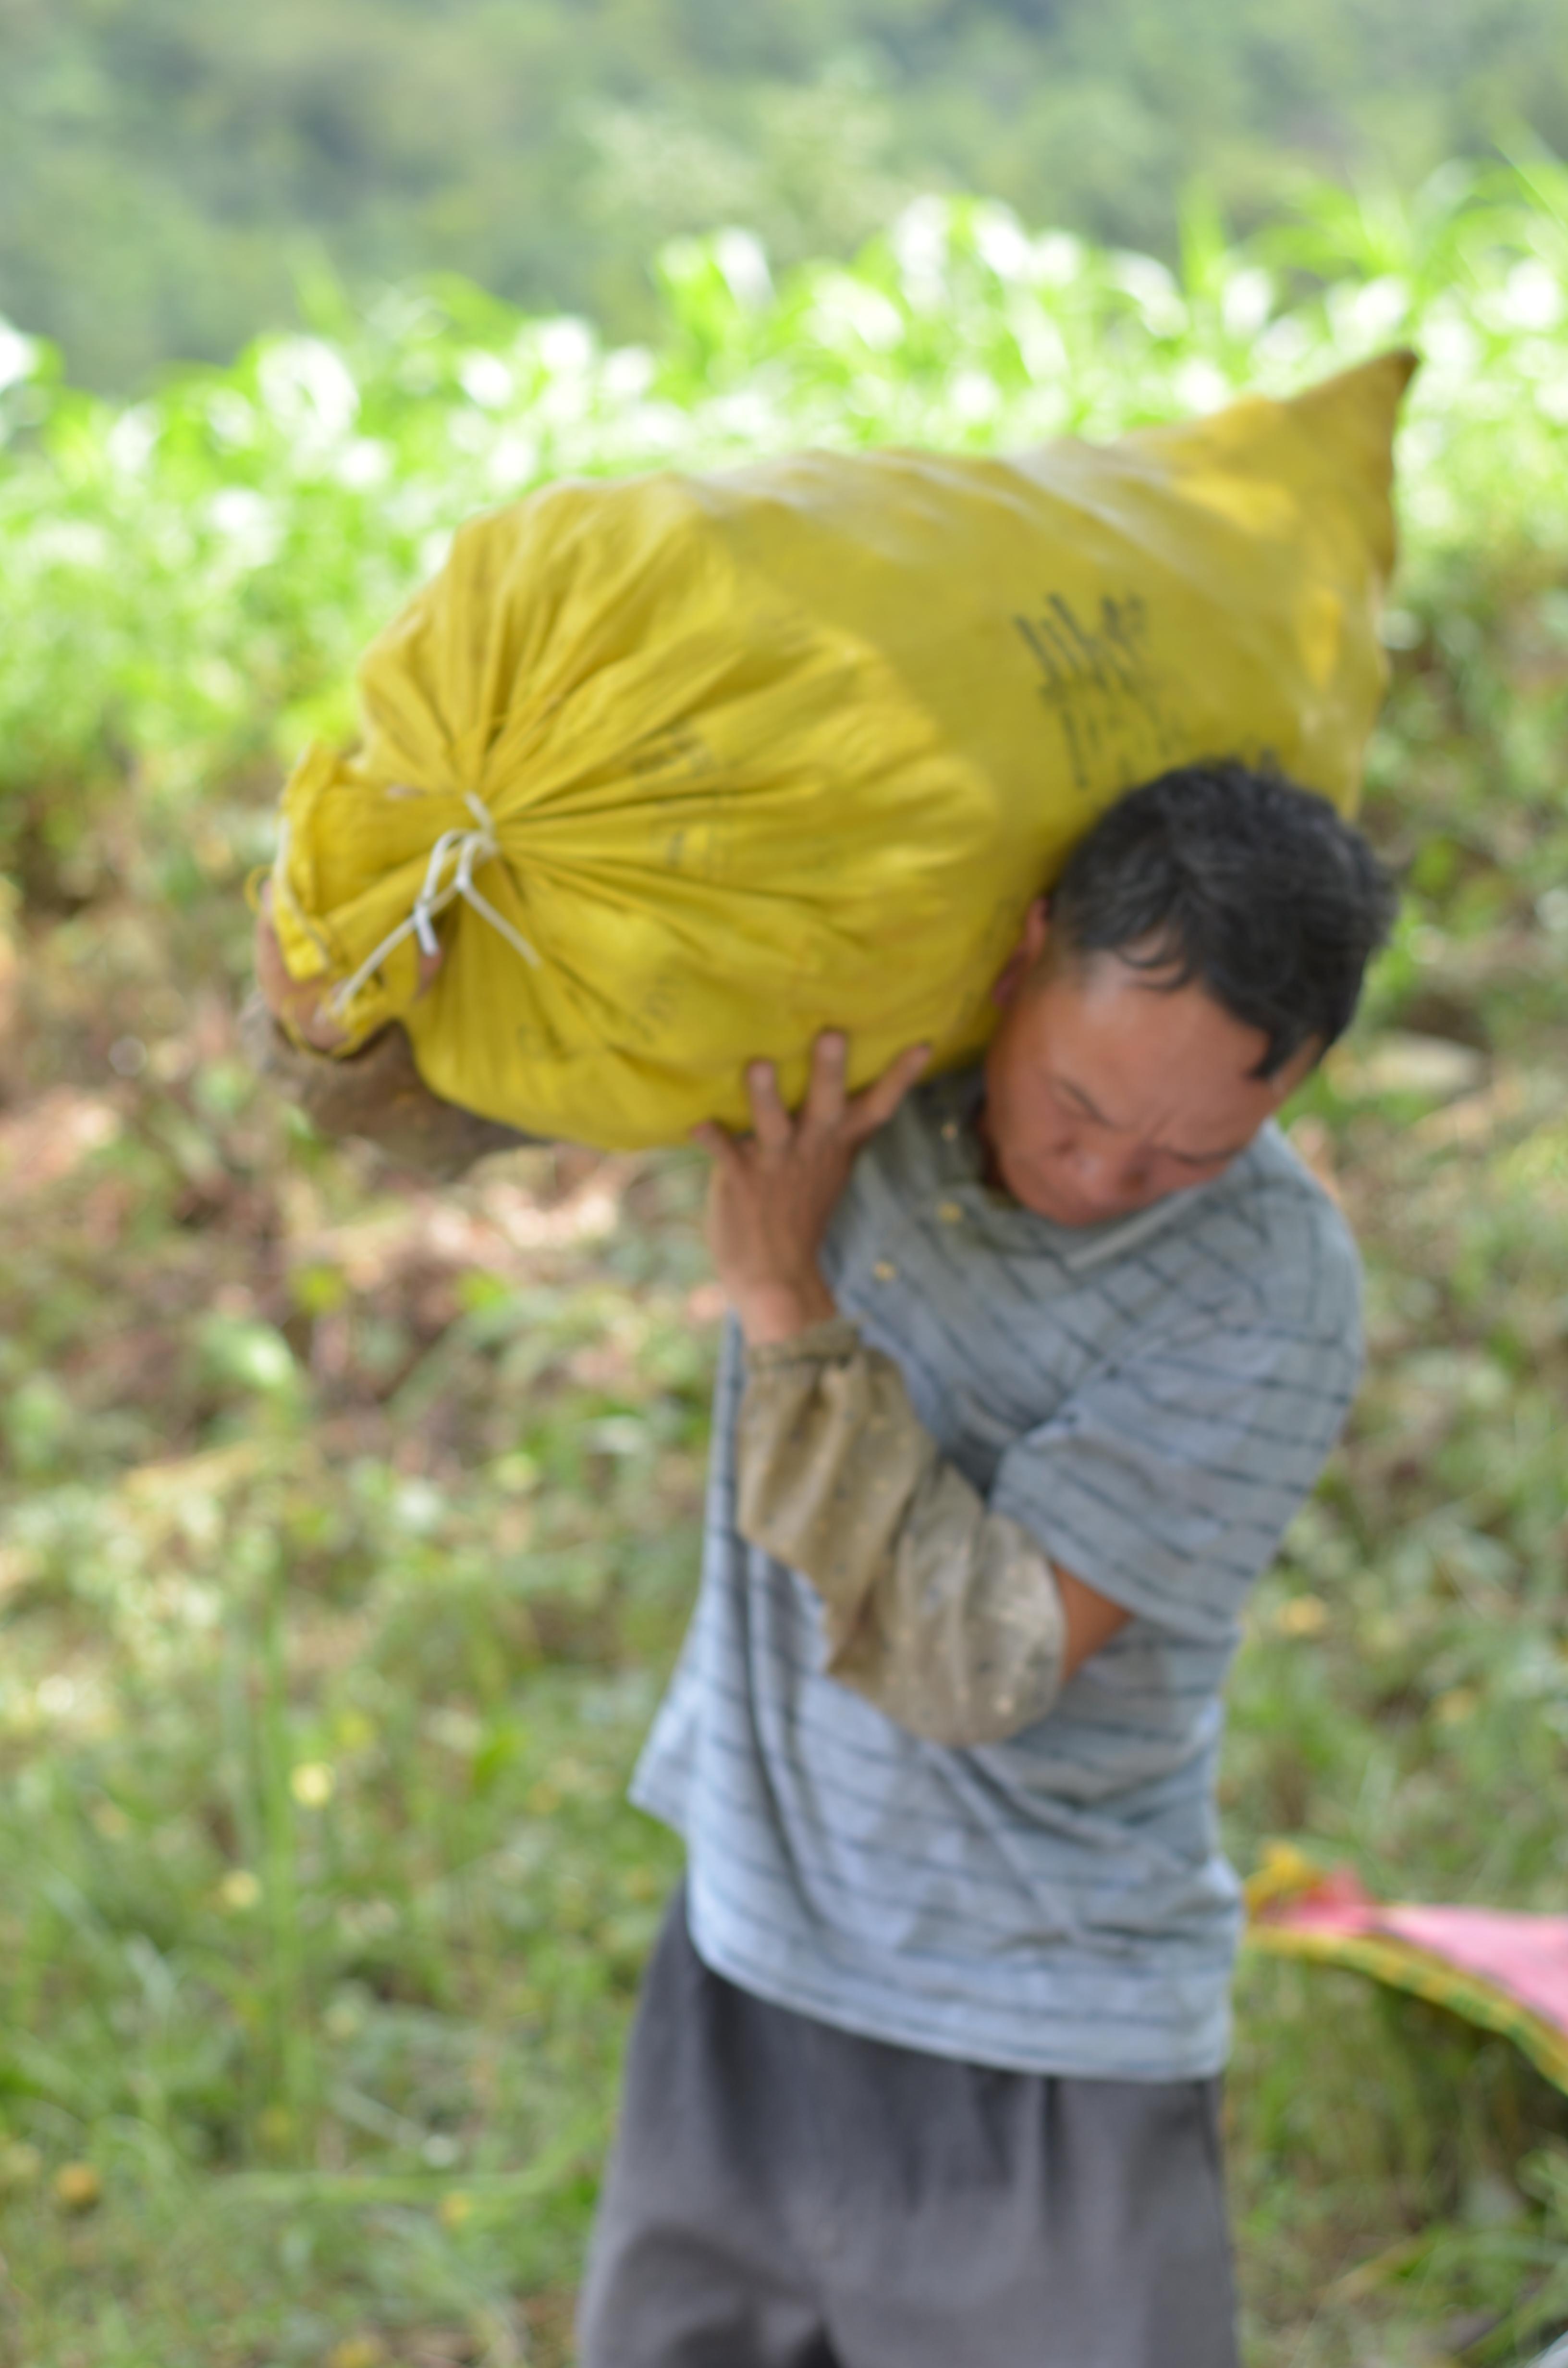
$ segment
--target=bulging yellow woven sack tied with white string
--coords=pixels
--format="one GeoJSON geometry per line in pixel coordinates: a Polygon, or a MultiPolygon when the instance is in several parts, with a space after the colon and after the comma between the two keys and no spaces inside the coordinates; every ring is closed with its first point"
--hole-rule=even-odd
{"type": "Polygon", "coordinates": [[[353,1044],[400,1018],[448,1101],[606,1148],[741,1125],[744,1061],[793,1094],[824,1025],[855,1082],[973,1056],[1125,789],[1244,755],[1352,805],[1412,367],[1106,448],[810,452],[471,521],[362,661],[362,748],[289,781],[289,971],[353,1044]]]}

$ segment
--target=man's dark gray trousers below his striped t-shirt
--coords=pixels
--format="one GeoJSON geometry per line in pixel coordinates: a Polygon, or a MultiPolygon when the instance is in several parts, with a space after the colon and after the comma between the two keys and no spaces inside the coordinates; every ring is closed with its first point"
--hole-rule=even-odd
{"type": "Polygon", "coordinates": [[[1236,2368],[1217,2081],[1047,2079],[649,1965],[580,2368],[1236,2368]]]}

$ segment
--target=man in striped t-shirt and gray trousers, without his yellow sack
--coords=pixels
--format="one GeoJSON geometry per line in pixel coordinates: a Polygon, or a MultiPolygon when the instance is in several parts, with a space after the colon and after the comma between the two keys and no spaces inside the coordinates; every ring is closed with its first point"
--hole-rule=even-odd
{"type": "Polygon", "coordinates": [[[689,1866],[583,2368],[1225,2368],[1220,1688],[1360,1371],[1270,1122],[1388,881],[1241,765],[1030,907],[981,1068],[706,1127],[732,1326],[632,1797],[689,1866]]]}

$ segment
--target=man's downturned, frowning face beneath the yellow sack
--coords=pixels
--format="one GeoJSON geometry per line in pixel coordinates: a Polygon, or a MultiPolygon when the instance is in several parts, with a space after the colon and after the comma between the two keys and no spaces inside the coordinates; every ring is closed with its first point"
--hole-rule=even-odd
{"type": "Polygon", "coordinates": [[[1118,954],[1040,964],[1047,924],[1030,914],[985,1056],[981,1132],[992,1182],[1056,1224],[1099,1224],[1203,1184],[1307,1075],[1303,1047],[1253,1077],[1260,1028],[1201,985],[1161,990],[1118,954]]]}

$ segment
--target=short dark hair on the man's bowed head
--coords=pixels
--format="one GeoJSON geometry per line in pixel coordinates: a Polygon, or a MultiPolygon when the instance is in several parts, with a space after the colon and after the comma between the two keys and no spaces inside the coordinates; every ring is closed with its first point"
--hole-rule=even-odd
{"type": "Polygon", "coordinates": [[[1213,760],[1163,772],[1099,817],[1052,890],[1052,947],[1120,954],[1163,990],[1196,978],[1265,1032],[1253,1075],[1272,1077],[1348,1028],[1395,902],[1326,798],[1213,760]]]}

